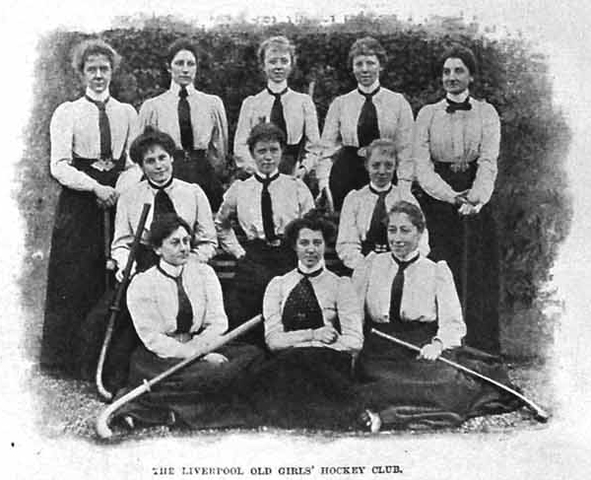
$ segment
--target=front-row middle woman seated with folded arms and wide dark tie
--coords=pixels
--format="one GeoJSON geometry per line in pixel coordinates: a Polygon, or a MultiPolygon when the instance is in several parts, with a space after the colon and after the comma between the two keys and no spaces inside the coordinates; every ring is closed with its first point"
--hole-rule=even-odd
{"type": "Polygon", "coordinates": [[[334,227],[313,214],[285,231],[296,269],[265,292],[265,340],[273,353],[254,382],[255,410],[267,425],[347,428],[352,357],[363,343],[361,308],[348,278],[325,268],[334,227]]]}

